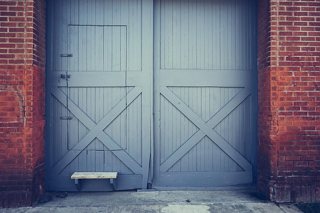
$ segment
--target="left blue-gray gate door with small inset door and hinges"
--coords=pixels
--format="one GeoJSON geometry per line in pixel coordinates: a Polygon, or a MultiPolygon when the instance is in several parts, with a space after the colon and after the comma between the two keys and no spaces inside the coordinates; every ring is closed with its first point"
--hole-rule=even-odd
{"type": "MultiPolygon", "coordinates": [[[[152,1],[47,3],[47,189],[77,190],[75,171],[117,171],[116,189],[146,188],[152,1]]],[[[112,190],[105,180],[81,185],[112,190]]]]}

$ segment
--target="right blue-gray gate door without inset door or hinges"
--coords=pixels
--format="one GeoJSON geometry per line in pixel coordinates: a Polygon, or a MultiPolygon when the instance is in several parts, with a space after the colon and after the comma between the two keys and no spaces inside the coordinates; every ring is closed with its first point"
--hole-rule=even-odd
{"type": "Polygon", "coordinates": [[[250,0],[154,2],[152,186],[253,183],[254,19],[250,0]]]}

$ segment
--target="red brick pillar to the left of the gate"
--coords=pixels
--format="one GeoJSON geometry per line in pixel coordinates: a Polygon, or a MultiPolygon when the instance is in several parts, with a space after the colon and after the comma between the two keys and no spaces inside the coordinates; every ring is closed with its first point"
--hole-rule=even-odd
{"type": "Polygon", "coordinates": [[[45,0],[0,0],[0,207],[44,191],[45,0]]]}

